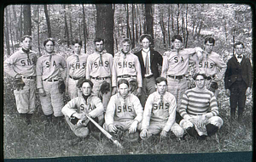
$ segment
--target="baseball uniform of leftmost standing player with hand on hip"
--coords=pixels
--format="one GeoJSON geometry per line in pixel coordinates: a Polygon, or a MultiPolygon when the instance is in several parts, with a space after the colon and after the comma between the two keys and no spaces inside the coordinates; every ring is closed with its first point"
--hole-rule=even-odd
{"type": "Polygon", "coordinates": [[[12,77],[21,75],[22,81],[25,82],[23,90],[14,91],[20,114],[32,114],[36,109],[36,64],[36,53],[22,48],[4,61],[4,71],[12,77]]]}

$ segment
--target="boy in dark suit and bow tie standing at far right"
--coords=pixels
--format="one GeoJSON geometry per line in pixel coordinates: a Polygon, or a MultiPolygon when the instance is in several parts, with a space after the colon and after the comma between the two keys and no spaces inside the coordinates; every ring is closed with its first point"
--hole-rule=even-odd
{"type": "Polygon", "coordinates": [[[246,98],[252,87],[252,65],[250,59],[243,54],[244,44],[236,42],[234,47],[236,54],[228,61],[224,84],[226,95],[230,97],[231,121],[235,119],[238,103],[238,121],[241,122],[246,98]]]}

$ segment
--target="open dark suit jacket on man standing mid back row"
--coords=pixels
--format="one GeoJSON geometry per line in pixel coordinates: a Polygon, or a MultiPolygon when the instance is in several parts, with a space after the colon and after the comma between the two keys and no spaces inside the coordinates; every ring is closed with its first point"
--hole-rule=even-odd
{"type": "MultiPolygon", "coordinates": [[[[135,55],[137,55],[140,64],[141,64],[141,70],[142,70],[142,76],[144,78],[145,73],[146,73],[146,67],[144,65],[144,61],[143,61],[143,53],[142,50],[140,50],[137,53],[134,53],[135,55]]],[[[160,53],[158,53],[157,51],[154,51],[154,49],[150,48],[150,70],[152,71],[154,78],[157,78],[160,76],[159,74],[159,70],[158,70],[158,66],[163,64],[163,57],[162,55],[160,55],[160,53]]]]}

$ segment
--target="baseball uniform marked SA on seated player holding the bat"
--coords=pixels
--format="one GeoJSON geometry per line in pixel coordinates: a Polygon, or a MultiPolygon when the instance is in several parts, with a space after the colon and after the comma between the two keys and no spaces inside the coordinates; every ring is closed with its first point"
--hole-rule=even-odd
{"type": "Polygon", "coordinates": [[[86,137],[89,135],[89,128],[87,125],[78,126],[73,125],[70,121],[74,113],[89,114],[91,118],[103,120],[103,104],[100,98],[96,96],[89,96],[85,101],[83,96],[73,98],[62,109],[63,115],[67,120],[68,126],[77,137],[86,137]]]}

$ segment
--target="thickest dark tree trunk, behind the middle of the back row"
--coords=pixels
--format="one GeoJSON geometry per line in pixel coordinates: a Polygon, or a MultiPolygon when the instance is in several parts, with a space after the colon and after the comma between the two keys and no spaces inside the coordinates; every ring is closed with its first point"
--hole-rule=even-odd
{"type": "Polygon", "coordinates": [[[105,48],[113,54],[113,14],[112,4],[96,4],[96,36],[106,40],[105,48]]]}

